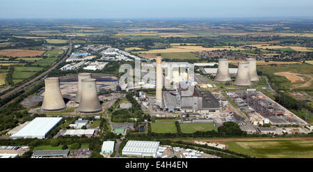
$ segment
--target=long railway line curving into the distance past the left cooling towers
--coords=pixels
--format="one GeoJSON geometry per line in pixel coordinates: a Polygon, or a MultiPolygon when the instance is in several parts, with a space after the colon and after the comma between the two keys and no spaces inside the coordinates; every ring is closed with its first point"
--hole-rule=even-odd
{"type": "MultiPolygon", "coordinates": [[[[61,59],[61,61],[58,61],[58,63],[54,63],[51,66],[51,68],[49,68],[45,72],[42,72],[40,75],[38,75],[37,77],[31,79],[30,81],[27,81],[26,83],[24,83],[24,84],[22,84],[20,86],[17,86],[16,88],[14,88],[12,91],[9,91],[8,93],[5,93],[5,94],[1,95],[0,98],[3,99],[5,97],[8,97],[9,95],[13,95],[14,93],[17,93],[17,91],[21,91],[21,90],[24,90],[26,88],[29,88],[29,87],[33,86],[34,84],[38,83],[38,81],[37,81],[38,79],[40,79],[39,81],[42,81],[43,79],[45,79],[45,77],[47,77],[47,74],[49,72],[54,70],[60,63],[63,63],[63,61],[65,61],[65,59],[68,58],[71,53],[72,53],[72,40],[70,40],[70,47],[68,49],[67,54],[61,59]]],[[[5,106],[5,105],[3,105],[3,106],[5,106]]]]}

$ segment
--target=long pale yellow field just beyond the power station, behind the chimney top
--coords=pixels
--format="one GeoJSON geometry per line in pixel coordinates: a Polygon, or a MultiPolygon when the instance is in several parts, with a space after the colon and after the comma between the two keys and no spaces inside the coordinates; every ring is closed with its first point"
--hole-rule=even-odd
{"type": "Polygon", "coordinates": [[[214,47],[214,48],[206,48],[202,46],[172,46],[168,49],[151,49],[149,51],[141,52],[141,53],[166,53],[166,52],[202,52],[202,51],[214,51],[214,50],[237,50],[241,48],[235,47],[214,47]]]}

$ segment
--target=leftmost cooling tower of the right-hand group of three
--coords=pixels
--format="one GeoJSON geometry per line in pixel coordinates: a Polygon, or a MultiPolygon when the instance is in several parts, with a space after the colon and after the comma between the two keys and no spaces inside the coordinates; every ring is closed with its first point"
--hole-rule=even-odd
{"type": "Polygon", "coordinates": [[[230,72],[228,71],[227,58],[220,58],[218,60],[218,72],[214,80],[219,82],[227,82],[232,80],[230,79],[230,72]]]}

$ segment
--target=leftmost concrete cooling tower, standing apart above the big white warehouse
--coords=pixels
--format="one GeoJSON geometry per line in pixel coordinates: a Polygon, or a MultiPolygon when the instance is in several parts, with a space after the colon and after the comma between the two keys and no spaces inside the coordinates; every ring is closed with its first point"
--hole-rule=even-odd
{"type": "Polygon", "coordinates": [[[45,94],[41,105],[42,111],[62,111],[66,109],[58,77],[45,79],[45,94]]]}

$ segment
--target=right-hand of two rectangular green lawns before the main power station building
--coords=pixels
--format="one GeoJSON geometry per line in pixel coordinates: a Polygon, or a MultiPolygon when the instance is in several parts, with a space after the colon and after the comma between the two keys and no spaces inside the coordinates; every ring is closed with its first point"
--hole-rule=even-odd
{"type": "Polygon", "coordinates": [[[214,123],[183,123],[180,124],[180,128],[183,133],[193,133],[193,132],[207,132],[211,130],[216,130],[217,127],[214,123]]]}

